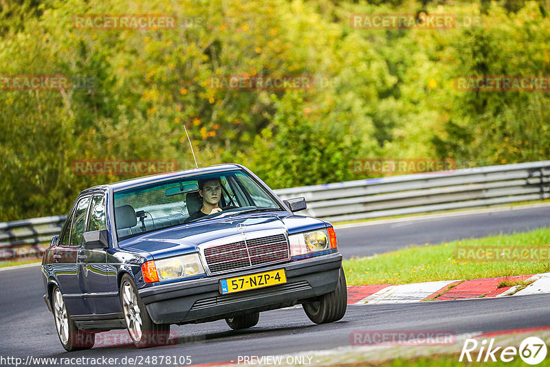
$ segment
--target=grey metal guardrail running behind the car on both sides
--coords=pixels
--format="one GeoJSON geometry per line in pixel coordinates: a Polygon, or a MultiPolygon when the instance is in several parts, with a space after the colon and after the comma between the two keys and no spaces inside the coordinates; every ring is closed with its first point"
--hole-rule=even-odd
{"type": "MultiPolygon", "coordinates": [[[[300,214],[328,221],[438,212],[550,198],[550,161],[362,179],[275,190],[305,197],[300,214]]],[[[0,260],[41,256],[65,216],[0,223],[0,260]]]]}

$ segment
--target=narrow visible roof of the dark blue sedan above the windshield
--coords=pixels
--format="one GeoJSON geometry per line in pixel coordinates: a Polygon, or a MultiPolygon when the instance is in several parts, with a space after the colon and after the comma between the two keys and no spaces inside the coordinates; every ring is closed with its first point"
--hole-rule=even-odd
{"type": "Polygon", "coordinates": [[[178,170],[174,172],[161,173],[159,175],[150,175],[144,177],[137,177],[135,179],[126,179],[124,181],[118,181],[113,183],[108,183],[107,185],[98,185],[92,188],[84,190],[81,194],[90,191],[97,190],[106,190],[107,188],[112,188],[113,191],[119,191],[125,188],[131,188],[135,186],[141,186],[144,183],[153,183],[155,181],[164,181],[166,179],[175,179],[177,177],[186,177],[192,175],[198,175],[201,173],[216,173],[224,170],[234,170],[241,169],[243,166],[239,164],[215,164],[214,166],[201,167],[201,168],[192,168],[190,170],[178,170]]]}

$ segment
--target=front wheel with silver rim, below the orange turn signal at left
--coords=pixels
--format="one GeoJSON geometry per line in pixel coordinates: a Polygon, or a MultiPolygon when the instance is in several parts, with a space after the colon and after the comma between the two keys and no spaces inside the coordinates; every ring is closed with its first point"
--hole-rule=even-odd
{"type": "Polygon", "coordinates": [[[137,348],[164,346],[170,337],[169,324],[155,324],[128,274],[120,280],[120,302],[126,329],[137,348]]]}

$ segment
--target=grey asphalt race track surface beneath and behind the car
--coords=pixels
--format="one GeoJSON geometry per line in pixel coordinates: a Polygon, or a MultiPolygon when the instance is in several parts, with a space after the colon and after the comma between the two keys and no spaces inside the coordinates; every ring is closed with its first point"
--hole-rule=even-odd
{"type": "MultiPolygon", "coordinates": [[[[430,220],[428,223],[401,222],[397,227],[369,225],[341,230],[338,234],[340,249],[346,256],[359,256],[388,251],[410,243],[437,243],[547,227],[550,209],[514,210],[507,214],[500,212],[494,215],[450,217],[438,219],[437,225],[430,220]],[[512,213],[513,216],[507,215],[512,213]],[[485,232],[482,228],[485,228],[485,232]],[[357,238],[358,243],[348,242],[353,238],[357,238]],[[361,246],[371,245],[373,249],[360,250],[361,246]]],[[[245,331],[232,331],[223,320],[206,324],[173,325],[171,331],[178,337],[175,345],[137,349],[111,340],[111,344],[103,343],[90,351],[66,353],[58,341],[54,318],[42,299],[43,285],[39,267],[0,271],[0,282],[0,357],[23,359],[28,356],[117,357],[121,361],[124,357],[170,355],[190,356],[192,364],[212,364],[232,360],[236,362],[239,356],[281,355],[350,346],[350,334],[358,330],[444,330],[462,334],[550,326],[550,294],[540,294],[411,304],[354,305],[348,307],[340,322],[325,325],[310,322],[301,308],[283,309],[262,313],[259,324],[245,331]]],[[[117,365],[121,365],[120,362],[117,365]]]]}

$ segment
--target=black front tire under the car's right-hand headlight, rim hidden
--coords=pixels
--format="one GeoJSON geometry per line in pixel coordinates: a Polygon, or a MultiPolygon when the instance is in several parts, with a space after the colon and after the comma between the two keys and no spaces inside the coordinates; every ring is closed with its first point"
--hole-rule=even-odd
{"type": "Polygon", "coordinates": [[[340,267],[340,280],[338,280],[336,289],[320,296],[317,301],[304,303],[305,314],[309,320],[316,324],[338,321],[346,313],[347,298],[346,275],[344,269],[340,267]]]}

